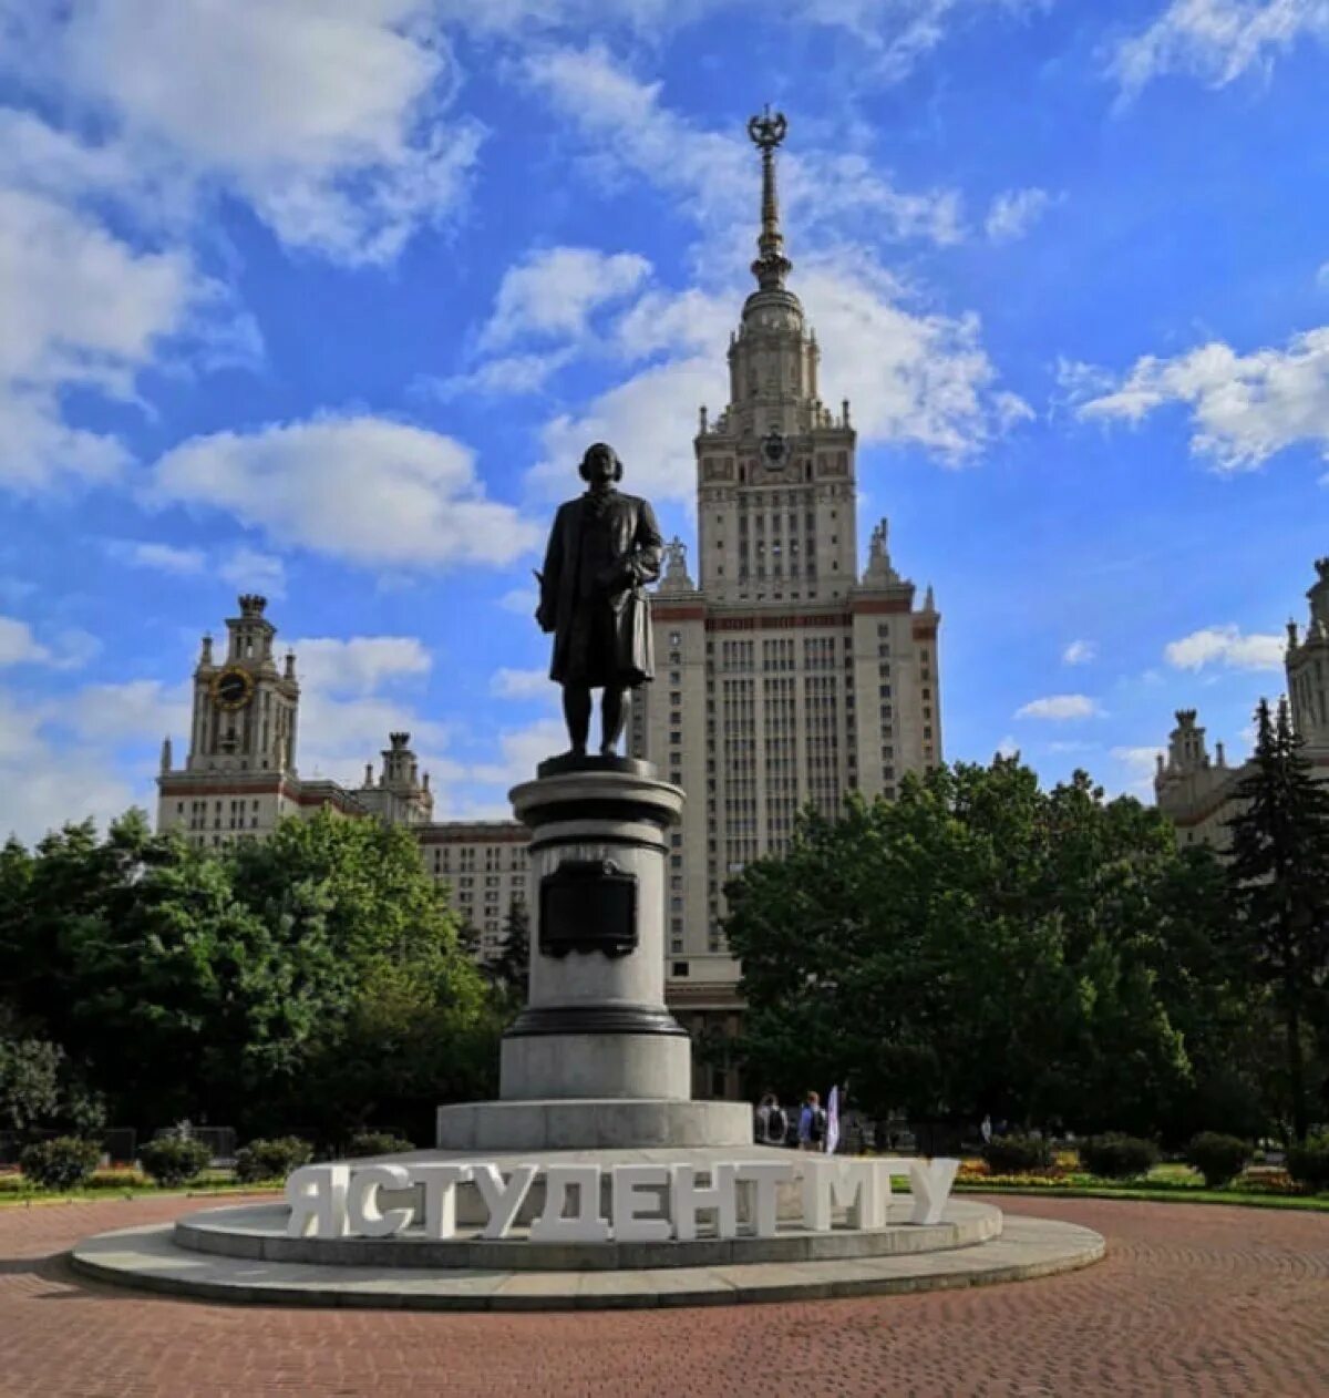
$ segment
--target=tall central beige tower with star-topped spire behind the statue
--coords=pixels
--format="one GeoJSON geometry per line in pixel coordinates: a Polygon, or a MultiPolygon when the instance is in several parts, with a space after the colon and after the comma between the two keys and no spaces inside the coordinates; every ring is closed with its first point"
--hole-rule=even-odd
{"type": "MultiPolygon", "coordinates": [[[[724,885],[783,850],[795,814],[837,814],[850,791],[894,795],[904,772],[942,761],[931,590],[892,568],[886,521],[859,575],[850,405],[822,401],[820,351],[788,288],[776,187],[785,119],[748,123],[762,157],[756,291],[729,338],[729,401],[702,408],[697,559],[669,545],[655,594],[657,674],[632,717],[632,749],[688,791],[671,835],[669,1004],[696,1036],[732,1033],[738,963],[724,885]],[[693,576],[695,573],[695,576],[693,576]]],[[[699,1096],[735,1089],[702,1069],[699,1096]]]]}

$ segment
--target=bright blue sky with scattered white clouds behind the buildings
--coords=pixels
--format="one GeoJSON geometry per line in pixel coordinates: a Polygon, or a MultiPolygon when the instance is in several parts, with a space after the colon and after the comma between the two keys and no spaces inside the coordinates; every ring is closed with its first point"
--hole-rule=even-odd
{"type": "Polygon", "coordinates": [[[407,727],[503,811],[581,449],[693,535],[767,101],[946,756],[1244,752],[1329,552],[1326,50],[1325,0],[0,0],[0,830],[151,807],[240,590],[302,773],[407,727]]]}

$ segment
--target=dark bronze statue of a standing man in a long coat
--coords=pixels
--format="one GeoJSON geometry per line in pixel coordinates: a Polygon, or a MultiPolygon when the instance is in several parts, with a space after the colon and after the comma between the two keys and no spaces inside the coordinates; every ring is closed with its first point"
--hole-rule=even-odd
{"type": "Polygon", "coordinates": [[[591,691],[602,689],[600,752],[608,758],[623,733],[626,692],[655,674],[646,583],[660,576],[664,540],[650,503],[615,489],[623,463],[613,447],[588,447],[580,471],[587,489],[553,519],[535,619],[553,632],[549,678],[563,686],[572,756],[586,755],[591,691]]]}

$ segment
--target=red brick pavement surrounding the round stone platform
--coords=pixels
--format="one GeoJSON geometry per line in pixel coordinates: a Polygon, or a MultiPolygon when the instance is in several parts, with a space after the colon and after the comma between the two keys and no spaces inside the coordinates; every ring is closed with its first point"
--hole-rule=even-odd
{"type": "Polygon", "coordinates": [[[0,1395],[1329,1395],[1329,1216],[998,1201],[1097,1229],[1082,1272],[844,1302],[549,1316],[207,1306],[59,1254],[197,1201],[0,1209],[0,1395]]]}

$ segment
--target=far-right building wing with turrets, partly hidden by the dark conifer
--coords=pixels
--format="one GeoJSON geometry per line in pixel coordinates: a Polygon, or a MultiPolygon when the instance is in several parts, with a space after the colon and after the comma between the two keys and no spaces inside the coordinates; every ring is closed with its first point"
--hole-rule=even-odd
{"type": "MultiPolygon", "coordinates": [[[[1305,742],[1304,755],[1315,774],[1329,781],[1329,558],[1315,561],[1307,601],[1311,614],[1305,630],[1295,621],[1287,624],[1287,696],[1293,728],[1305,742]]],[[[1210,844],[1226,851],[1227,823],[1240,808],[1237,786],[1251,765],[1228,766],[1221,742],[1210,758],[1196,717],[1195,709],[1177,710],[1167,756],[1159,754],[1154,800],[1182,844],[1210,844]]]]}

